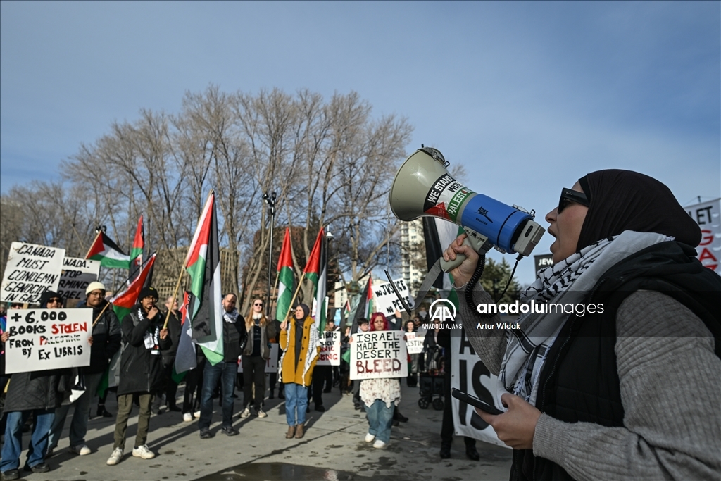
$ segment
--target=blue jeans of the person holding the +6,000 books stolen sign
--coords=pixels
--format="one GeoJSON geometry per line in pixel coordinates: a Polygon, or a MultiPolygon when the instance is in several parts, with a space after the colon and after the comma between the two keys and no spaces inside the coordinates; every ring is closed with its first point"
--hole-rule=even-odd
{"type": "Polygon", "coordinates": [[[2,462],[0,471],[20,467],[20,453],[22,453],[22,425],[25,424],[30,412],[35,413],[35,428],[32,430],[30,449],[27,450],[27,465],[37,466],[45,461],[45,452],[48,451],[48,433],[53,425],[55,410],[12,411],[7,413],[5,425],[5,444],[2,445],[2,462]]]}

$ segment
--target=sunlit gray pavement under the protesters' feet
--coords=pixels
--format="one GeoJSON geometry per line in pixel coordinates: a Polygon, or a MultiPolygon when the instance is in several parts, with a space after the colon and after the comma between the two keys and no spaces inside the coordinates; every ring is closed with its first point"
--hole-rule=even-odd
{"type": "MultiPolygon", "coordinates": [[[[206,481],[291,481],[291,480],[508,480],[510,449],[477,442],[478,462],[465,456],[461,439],[454,441],[451,459],[441,459],[441,418],[443,411],[422,410],[417,405],[418,389],[402,386],[401,412],[410,420],[394,427],[386,449],[373,449],[363,441],[368,431],[365,415],[353,409],[351,396],[342,396],[335,388],[323,394],[326,412],[312,409],[307,415],[306,435],[286,439],[285,403],[266,400],[267,418],[239,418],[242,393],[235,401],[234,427],[238,436],[221,433],[221,410],[213,400],[215,413],[211,439],[200,439],[198,420],[185,423],[180,412],[153,415],[148,444],[157,456],[143,460],[131,454],[138,422],[133,408],[128,423],[128,441],[123,460],[115,466],[105,461],[112,451],[115,418],[92,418],[86,442],[92,454],[77,456],[68,450],[66,429],[55,454],[46,459],[51,471],[27,473],[29,481],[131,481],[131,480],[206,480],[206,481]]],[[[183,387],[178,390],[182,400],[183,387]]],[[[95,413],[93,402],[91,414],[95,413]]],[[[179,406],[182,404],[179,403],[179,406]]],[[[107,409],[117,412],[115,396],[107,399],[107,409]]],[[[25,445],[30,435],[25,434],[25,445]]],[[[26,453],[20,458],[25,463],[26,453]]]]}

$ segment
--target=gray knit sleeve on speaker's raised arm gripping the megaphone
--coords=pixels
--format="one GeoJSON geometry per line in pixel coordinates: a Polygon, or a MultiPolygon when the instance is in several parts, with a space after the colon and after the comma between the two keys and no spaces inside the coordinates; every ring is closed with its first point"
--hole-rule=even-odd
{"type": "MultiPolygon", "coordinates": [[[[489,319],[481,319],[478,312],[472,311],[466,303],[466,288],[456,288],[456,291],[459,297],[459,317],[463,322],[466,337],[488,370],[497,376],[505,354],[505,330],[483,329],[479,324],[495,325],[496,322],[500,322],[500,316],[496,314],[489,319]]],[[[480,283],[476,283],[473,289],[473,300],[476,305],[493,302],[490,294],[483,290],[480,283]]]]}

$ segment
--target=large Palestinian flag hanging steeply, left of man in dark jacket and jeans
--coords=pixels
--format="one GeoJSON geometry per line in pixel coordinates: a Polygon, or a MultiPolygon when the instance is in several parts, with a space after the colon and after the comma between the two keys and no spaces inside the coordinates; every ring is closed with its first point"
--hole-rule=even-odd
{"type": "Polygon", "coordinates": [[[193,293],[190,301],[193,341],[203,348],[205,357],[215,366],[223,361],[223,305],[216,195],[212,190],[190,243],[185,270],[190,275],[193,293]]]}

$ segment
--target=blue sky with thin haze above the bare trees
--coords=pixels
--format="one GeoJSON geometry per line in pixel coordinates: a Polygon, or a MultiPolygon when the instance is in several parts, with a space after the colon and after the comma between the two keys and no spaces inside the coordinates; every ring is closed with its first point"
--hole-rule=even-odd
{"type": "MultiPolygon", "coordinates": [[[[469,187],[539,219],[598,169],[656,177],[684,206],[721,195],[719,2],[0,9],[1,192],[56,177],[113,121],[178,112],[186,91],[217,84],[355,90],[375,115],[415,126],[409,152],[438,147],[465,165],[469,187]]],[[[521,262],[523,283],[531,264],[521,262]]]]}

